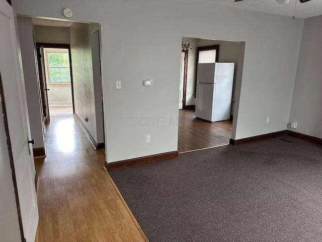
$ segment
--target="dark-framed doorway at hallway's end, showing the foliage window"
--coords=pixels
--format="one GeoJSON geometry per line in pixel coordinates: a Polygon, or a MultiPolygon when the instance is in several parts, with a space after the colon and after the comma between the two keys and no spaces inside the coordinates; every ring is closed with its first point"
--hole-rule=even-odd
{"type": "Polygon", "coordinates": [[[50,116],[72,115],[73,83],[69,44],[36,43],[42,109],[50,116]]]}

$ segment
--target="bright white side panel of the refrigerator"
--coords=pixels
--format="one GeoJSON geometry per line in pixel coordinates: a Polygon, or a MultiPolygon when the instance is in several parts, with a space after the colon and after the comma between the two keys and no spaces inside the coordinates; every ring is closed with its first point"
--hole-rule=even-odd
{"type": "Polygon", "coordinates": [[[234,63],[216,63],[213,122],[230,118],[234,63]]]}

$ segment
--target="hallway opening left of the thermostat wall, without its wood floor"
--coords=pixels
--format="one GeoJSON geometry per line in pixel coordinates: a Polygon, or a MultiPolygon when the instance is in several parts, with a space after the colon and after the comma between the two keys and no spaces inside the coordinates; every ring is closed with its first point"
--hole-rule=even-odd
{"type": "Polygon", "coordinates": [[[104,148],[100,25],[39,18],[32,22],[44,133],[50,117],[74,115],[93,146],[104,148]]]}

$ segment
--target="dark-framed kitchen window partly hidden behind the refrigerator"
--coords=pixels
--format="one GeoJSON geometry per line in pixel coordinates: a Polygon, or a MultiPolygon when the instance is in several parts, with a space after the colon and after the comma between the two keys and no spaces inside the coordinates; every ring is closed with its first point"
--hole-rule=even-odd
{"type": "Polygon", "coordinates": [[[199,63],[218,62],[219,44],[197,47],[197,62],[195,73],[195,97],[197,92],[197,72],[199,63]]]}

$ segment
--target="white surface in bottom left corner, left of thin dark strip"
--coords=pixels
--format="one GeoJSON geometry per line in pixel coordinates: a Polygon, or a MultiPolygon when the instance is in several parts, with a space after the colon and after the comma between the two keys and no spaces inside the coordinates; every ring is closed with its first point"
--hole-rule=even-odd
{"type": "MultiPolygon", "coordinates": [[[[0,111],[2,114],[1,106],[0,111]]],[[[21,241],[3,115],[0,117],[0,214],[0,241],[21,241]]]]}

